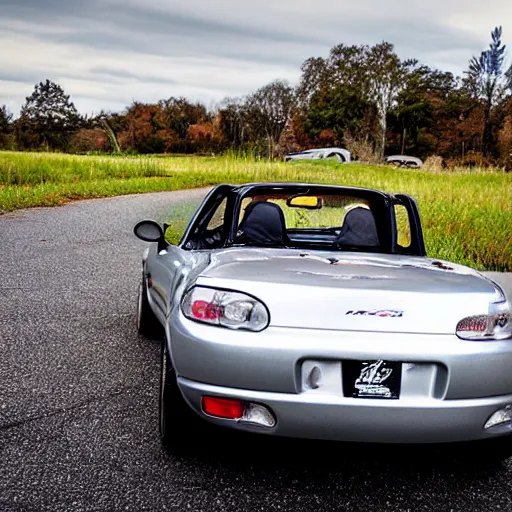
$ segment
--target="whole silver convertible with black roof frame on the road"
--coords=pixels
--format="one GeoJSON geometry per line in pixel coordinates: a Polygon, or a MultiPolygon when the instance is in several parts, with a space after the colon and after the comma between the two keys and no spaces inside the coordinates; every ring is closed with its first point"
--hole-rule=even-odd
{"type": "Polygon", "coordinates": [[[163,339],[171,452],[215,424],[512,455],[510,304],[477,271],[426,256],[410,196],[224,184],[177,245],[165,227],[134,232],[153,242],[138,329],[163,339]]]}

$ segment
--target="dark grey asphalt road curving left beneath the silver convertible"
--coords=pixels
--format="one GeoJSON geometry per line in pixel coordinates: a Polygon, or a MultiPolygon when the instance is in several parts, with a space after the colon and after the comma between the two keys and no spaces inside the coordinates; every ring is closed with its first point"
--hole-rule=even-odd
{"type": "Polygon", "coordinates": [[[203,194],[0,217],[0,511],[512,509],[512,461],[229,436],[210,455],[162,451],[160,347],[135,328],[146,244],[132,228],[203,194]]]}

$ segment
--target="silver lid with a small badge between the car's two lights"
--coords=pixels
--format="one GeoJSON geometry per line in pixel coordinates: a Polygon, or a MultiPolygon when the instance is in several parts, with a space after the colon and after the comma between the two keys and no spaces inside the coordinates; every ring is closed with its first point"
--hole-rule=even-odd
{"type": "Polygon", "coordinates": [[[271,325],[453,334],[497,297],[478,272],[422,257],[230,248],[215,251],[197,284],[262,300],[271,325]]]}

